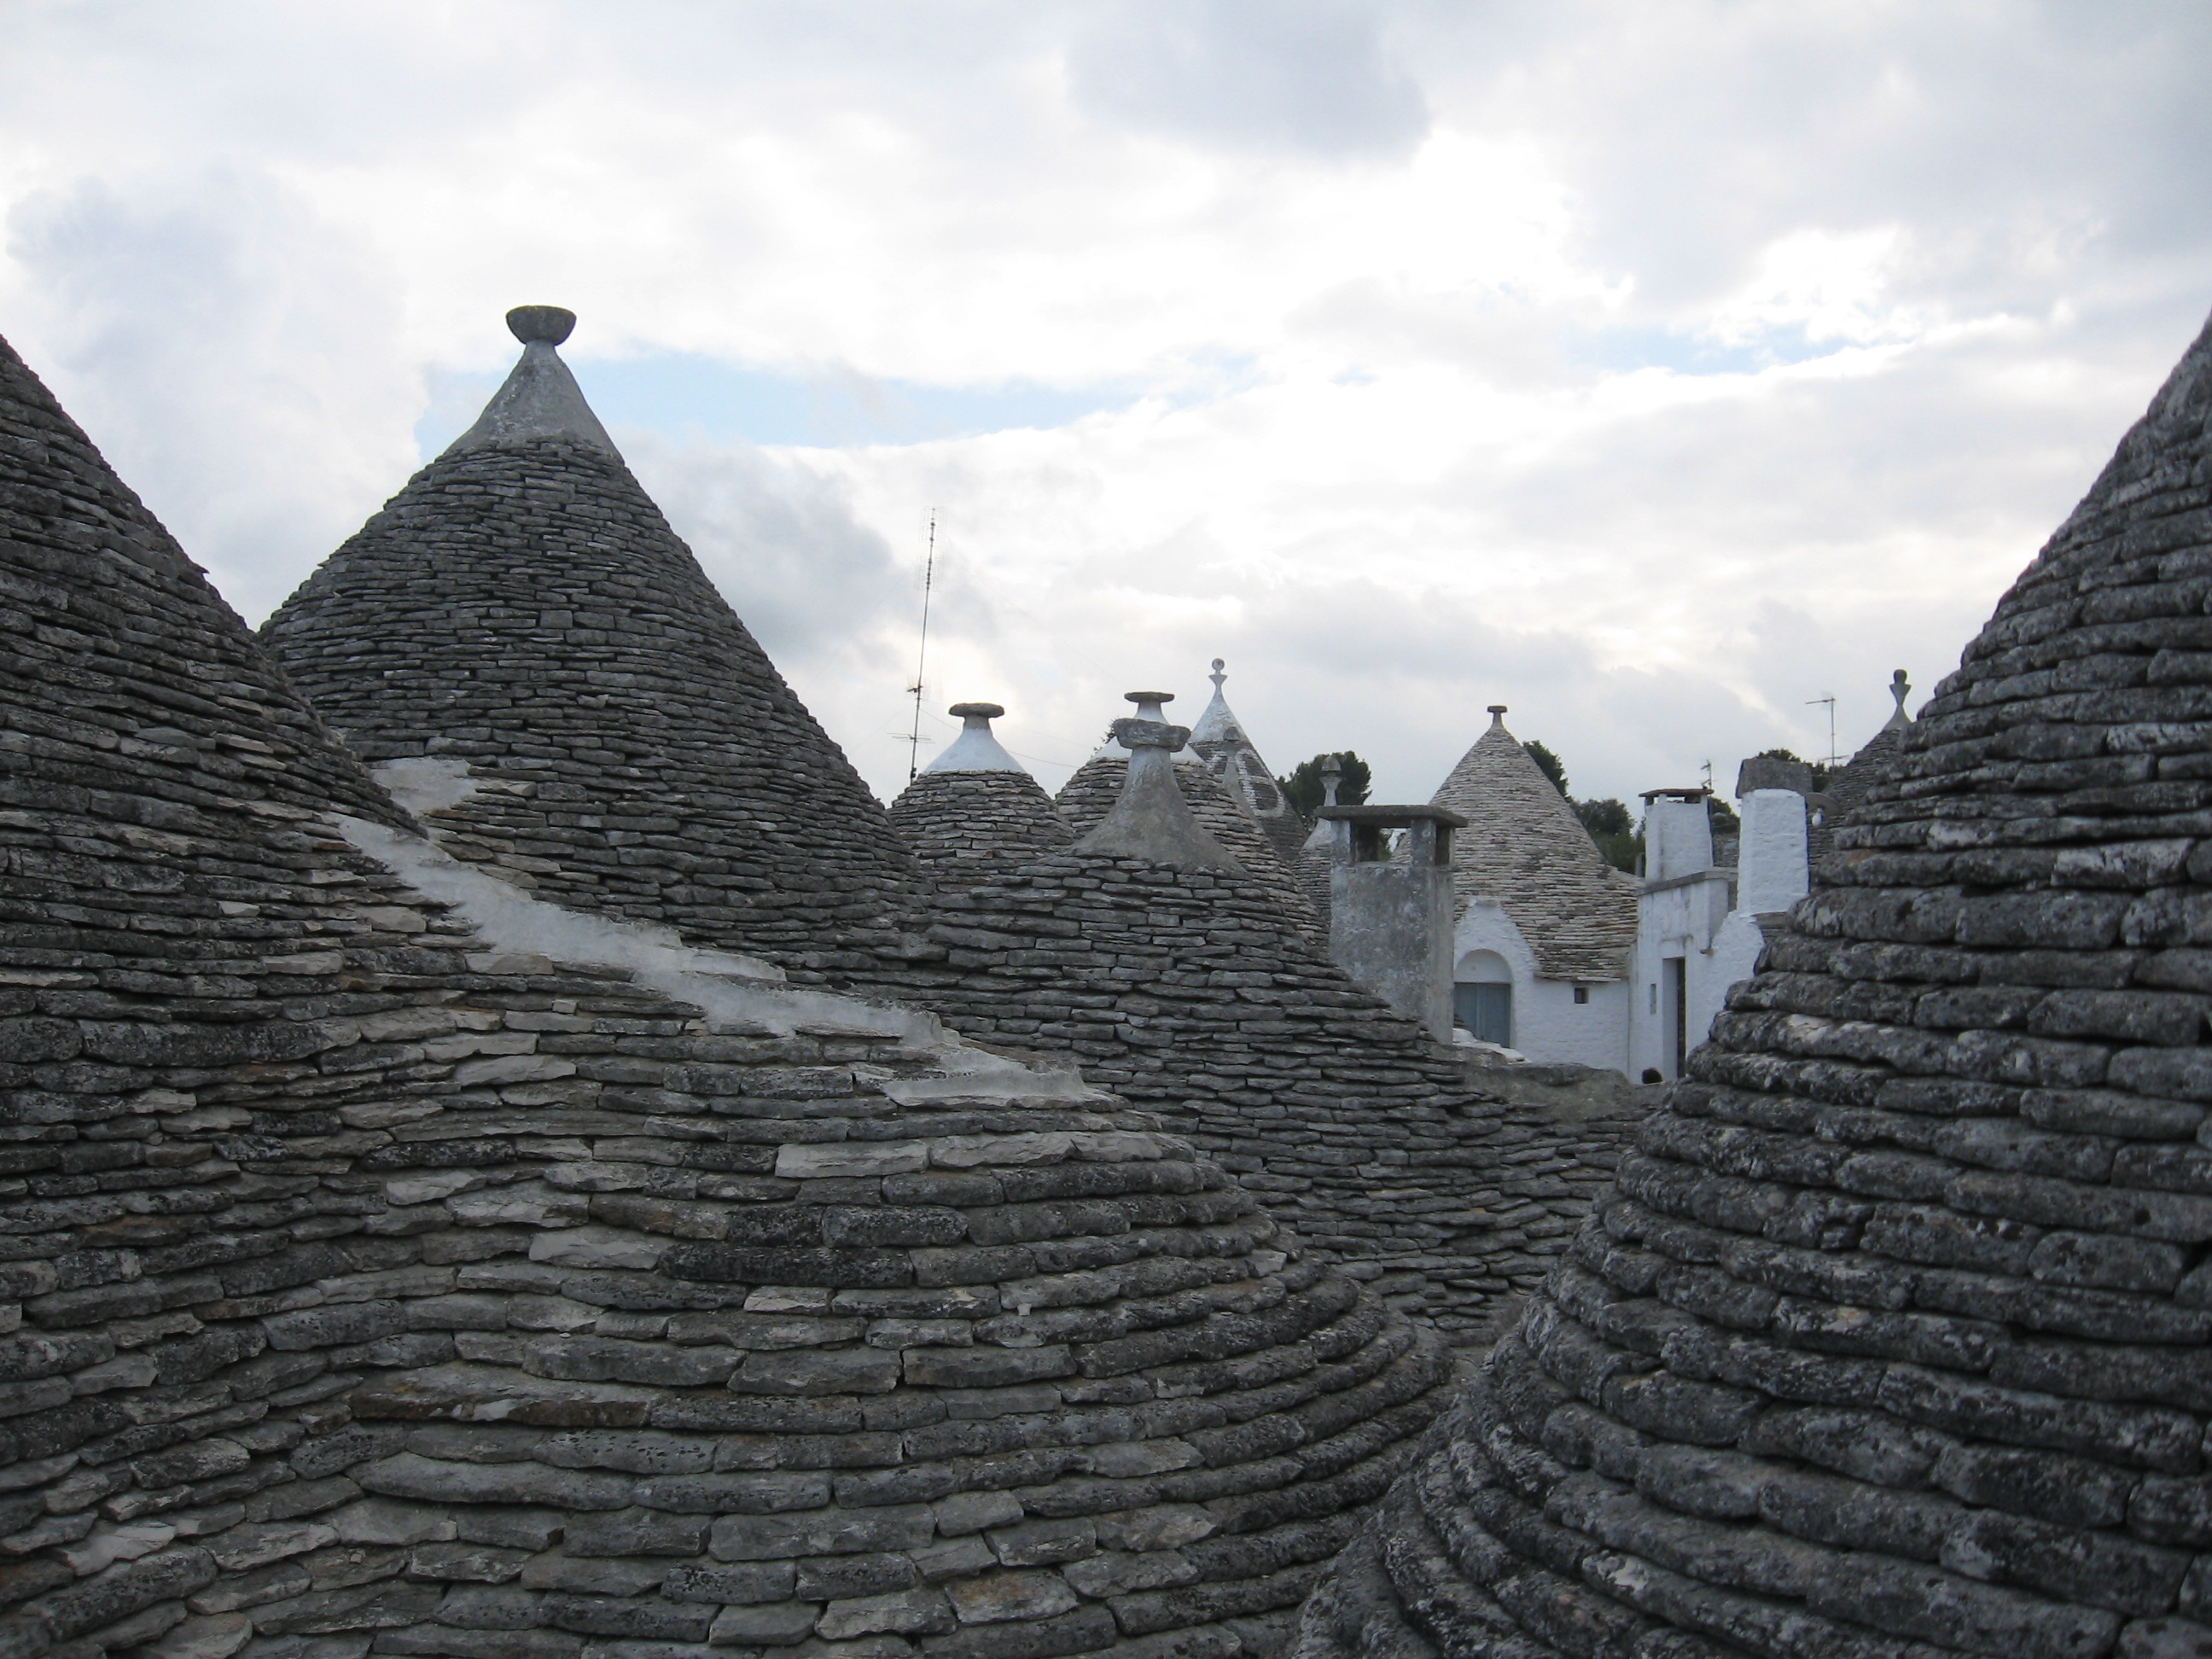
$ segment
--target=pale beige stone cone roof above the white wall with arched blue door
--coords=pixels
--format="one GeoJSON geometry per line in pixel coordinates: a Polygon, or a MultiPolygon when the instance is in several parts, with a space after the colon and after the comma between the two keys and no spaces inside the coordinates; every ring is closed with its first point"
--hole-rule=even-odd
{"type": "Polygon", "coordinates": [[[1467,818],[1467,830],[1451,838],[1451,883],[1462,914],[1478,898],[1502,905],[1546,980],[1628,975],[1637,887],[1615,880],[1619,872],[1506,730],[1502,708],[1491,710],[1491,728],[1460,757],[1429,805],[1467,818]]]}

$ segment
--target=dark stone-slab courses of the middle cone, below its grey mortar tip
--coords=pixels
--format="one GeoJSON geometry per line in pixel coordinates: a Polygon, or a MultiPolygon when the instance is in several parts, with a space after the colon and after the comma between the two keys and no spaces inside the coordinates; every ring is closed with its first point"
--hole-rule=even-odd
{"type": "Polygon", "coordinates": [[[911,995],[980,1042],[1073,1053],[1460,1343],[1535,1290],[1632,1128],[1469,1088],[1237,872],[1068,852],[936,914],[947,960],[911,995]]]}

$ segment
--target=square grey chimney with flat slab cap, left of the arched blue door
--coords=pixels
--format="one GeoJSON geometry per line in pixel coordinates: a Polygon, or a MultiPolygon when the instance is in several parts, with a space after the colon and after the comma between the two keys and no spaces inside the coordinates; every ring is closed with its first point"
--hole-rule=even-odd
{"type": "Polygon", "coordinates": [[[1451,832],[1447,807],[1323,807],[1329,847],[1329,960],[1451,1042],[1451,832]],[[1391,858],[1385,832],[1405,830],[1391,858]]]}

